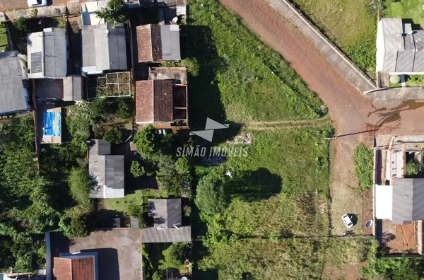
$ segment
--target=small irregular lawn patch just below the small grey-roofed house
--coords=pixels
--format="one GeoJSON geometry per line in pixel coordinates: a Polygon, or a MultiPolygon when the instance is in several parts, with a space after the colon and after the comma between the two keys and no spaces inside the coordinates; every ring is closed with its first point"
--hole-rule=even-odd
{"type": "Polygon", "coordinates": [[[147,199],[158,197],[159,195],[154,192],[139,189],[136,190],[134,194],[126,194],[125,197],[118,199],[105,199],[104,202],[106,209],[127,213],[129,204],[134,203],[137,205],[143,205],[147,203],[147,199]]]}

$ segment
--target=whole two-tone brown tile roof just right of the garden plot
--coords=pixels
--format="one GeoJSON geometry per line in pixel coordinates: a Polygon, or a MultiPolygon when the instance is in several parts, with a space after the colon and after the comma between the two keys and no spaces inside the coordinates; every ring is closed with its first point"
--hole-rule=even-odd
{"type": "Polygon", "coordinates": [[[174,120],[172,80],[136,82],[136,122],[174,120]]]}

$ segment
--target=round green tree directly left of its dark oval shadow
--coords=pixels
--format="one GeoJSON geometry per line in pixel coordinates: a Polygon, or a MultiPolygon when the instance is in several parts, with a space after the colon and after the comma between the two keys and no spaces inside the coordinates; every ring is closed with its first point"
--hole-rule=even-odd
{"type": "Polygon", "coordinates": [[[216,177],[203,177],[199,180],[194,203],[206,214],[215,215],[227,208],[228,200],[223,183],[216,177]]]}

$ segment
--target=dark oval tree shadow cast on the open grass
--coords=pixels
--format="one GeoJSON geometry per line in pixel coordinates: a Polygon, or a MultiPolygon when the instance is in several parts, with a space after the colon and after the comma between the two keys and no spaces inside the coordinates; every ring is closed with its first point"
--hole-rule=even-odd
{"type": "Polygon", "coordinates": [[[273,194],[279,194],[281,185],[279,175],[271,173],[266,168],[259,168],[254,171],[233,173],[232,178],[225,183],[225,189],[245,201],[255,201],[269,199],[273,194]]]}

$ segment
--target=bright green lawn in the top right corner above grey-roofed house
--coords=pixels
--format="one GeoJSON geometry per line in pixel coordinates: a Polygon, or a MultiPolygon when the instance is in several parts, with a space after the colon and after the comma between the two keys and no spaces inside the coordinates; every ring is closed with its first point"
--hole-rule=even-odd
{"type": "Polygon", "coordinates": [[[384,18],[411,18],[413,23],[424,26],[423,1],[421,0],[386,0],[383,7],[384,18]]]}

